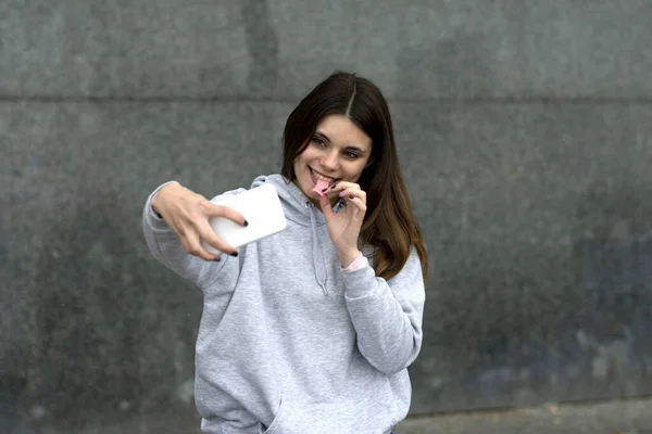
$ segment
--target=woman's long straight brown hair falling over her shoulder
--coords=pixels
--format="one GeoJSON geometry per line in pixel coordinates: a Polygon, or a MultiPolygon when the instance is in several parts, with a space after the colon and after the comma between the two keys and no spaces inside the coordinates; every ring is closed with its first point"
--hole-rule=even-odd
{"type": "Polygon", "coordinates": [[[376,276],[385,280],[397,276],[414,246],[425,280],[428,257],[401,175],[389,107],[372,81],[337,72],[301,100],[285,126],[281,175],[294,181],[294,158],[305,150],[322,119],[334,114],[347,116],[372,139],[371,163],[358,183],[367,196],[360,238],[375,250],[376,276]]]}

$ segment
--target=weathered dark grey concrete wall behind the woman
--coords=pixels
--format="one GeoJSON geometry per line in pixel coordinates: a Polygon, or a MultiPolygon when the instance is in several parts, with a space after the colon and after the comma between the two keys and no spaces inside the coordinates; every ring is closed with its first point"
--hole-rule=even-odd
{"type": "Polygon", "coordinates": [[[286,116],[337,68],[390,100],[431,255],[412,414],[652,393],[650,2],[0,16],[0,432],[197,429],[201,294],[149,256],[142,203],[278,170],[286,116]]]}

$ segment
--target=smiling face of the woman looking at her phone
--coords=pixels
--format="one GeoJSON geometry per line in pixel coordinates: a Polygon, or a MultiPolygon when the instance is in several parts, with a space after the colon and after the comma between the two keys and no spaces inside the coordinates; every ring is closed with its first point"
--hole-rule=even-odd
{"type": "Polygon", "coordinates": [[[346,116],[326,116],[305,150],[294,158],[296,182],[317,204],[319,195],[312,189],[318,179],[329,187],[338,181],[355,182],[371,155],[372,139],[362,129],[346,116]]]}

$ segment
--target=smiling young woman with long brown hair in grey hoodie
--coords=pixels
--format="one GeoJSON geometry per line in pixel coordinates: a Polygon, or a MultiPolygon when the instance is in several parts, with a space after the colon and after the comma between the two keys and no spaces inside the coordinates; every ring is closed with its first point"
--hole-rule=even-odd
{"type": "Polygon", "coordinates": [[[288,226],[239,251],[209,218],[244,218],[174,181],[145,206],[152,255],[203,291],[202,430],[390,433],[410,408],[427,255],[379,89],[348,73],[318,84],[288,117],[283,159],[251,187],[276,188],[288,226]]]}

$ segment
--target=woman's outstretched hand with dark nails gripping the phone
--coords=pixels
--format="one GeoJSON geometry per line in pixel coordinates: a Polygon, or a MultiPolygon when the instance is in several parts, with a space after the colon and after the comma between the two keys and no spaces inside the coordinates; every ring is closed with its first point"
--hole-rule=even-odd
{"type": "Polygon", "coordinates": [[[237,210],[211,203],[178,182],[163,187],[152,199],[152,208],[177,234],[184,250],[205,260],[215,260],[220,255],[208,252],[201,244],[203,239],[220,252],[237,256],[238,252],[213,232],[209,218],[225,217],[238,225],[247,226],[247,220],[237,210]]]}

